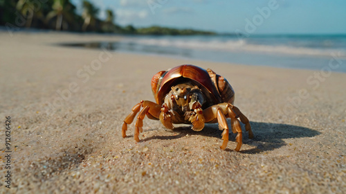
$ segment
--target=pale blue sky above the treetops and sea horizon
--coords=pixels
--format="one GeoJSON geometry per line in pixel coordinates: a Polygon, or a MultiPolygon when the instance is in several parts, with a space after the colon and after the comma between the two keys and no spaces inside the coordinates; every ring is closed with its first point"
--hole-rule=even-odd
{"type": "MultiPolygon", "coordinates": [[[[104,19],[104,10],[111,9],[116,13],[116,23],[122,26],[159,25],[219,33],[346,33],[345,0],[90,1],[100,8],[100,19],[104,19]]],[[[72,2],[80,10],[81,1],[72,2]]]]}

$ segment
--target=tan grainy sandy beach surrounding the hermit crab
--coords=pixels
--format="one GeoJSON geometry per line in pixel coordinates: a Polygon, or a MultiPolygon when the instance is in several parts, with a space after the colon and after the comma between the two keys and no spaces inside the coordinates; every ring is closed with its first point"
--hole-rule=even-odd
{"type": "Polygon", "coordinates": [[[337,60],[308,71],[57,46],[118,39],[0,33],[0,193],[346,192],[346,74],[326,71],[337,60]],[[180,64],[233,86],[255,135],[243,126],[240,152],[232,133],[219,148],[217,124],[167,130],[145,118],[139,143],[134,123],[122,138],[131,108],[154,101],[152,76],[180,64]]]}

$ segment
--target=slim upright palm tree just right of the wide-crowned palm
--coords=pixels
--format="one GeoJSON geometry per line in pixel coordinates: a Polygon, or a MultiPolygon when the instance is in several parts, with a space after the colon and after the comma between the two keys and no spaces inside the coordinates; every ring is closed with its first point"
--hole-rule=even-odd
{"type": "Polygon", "coordinates": [[[90,25],[92,28],[95,25],[96,15],[98,15],[99,9],[93,6],[89,1],[83,1],[83,13],[82,17],[84,19],[84,24],[82,30],[85,31],[86,28],[90,25]]]}

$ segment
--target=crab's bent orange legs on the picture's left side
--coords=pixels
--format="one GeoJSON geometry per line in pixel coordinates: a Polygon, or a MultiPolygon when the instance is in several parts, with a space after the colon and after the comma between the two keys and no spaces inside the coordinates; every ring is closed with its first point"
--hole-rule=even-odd
{"type": "Polygon", "coordinates": [[[140,103],[132,108],[132,112],[125,118],[124,123],[122,123],[122,137],[126,137],[127,125],[131,124],[136,117],[136,114],[140,111],[140,107],[144,107],[142,111],[137,116],[136,128],[134,133],[134,139],[139,141],[139,132],[143,132],[143,119],[145,115],[148,118],[158,120],[161,112],[161,106],[148,100],[142,100],[140,103]]]}

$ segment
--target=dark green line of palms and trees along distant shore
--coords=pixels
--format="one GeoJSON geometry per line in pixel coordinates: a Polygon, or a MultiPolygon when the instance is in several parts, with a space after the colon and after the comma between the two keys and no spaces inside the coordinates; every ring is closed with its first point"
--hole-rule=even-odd
{"type": "Polygon", "coordinates": [[[214,32],[175,29],[161,26],[135,28],[119,26],[116,14],[105,10],[106,19],[98,18],[100,9],[90,1],[82,1],[82,14],[69,0],[0,0],[0,25],[11,30],[39,28],[77,32],[122,33],[141,35],[214,35],[214,32]]]}

